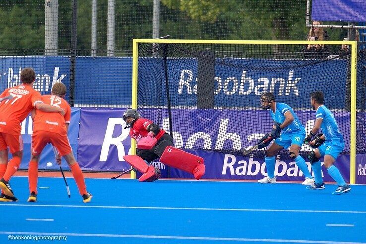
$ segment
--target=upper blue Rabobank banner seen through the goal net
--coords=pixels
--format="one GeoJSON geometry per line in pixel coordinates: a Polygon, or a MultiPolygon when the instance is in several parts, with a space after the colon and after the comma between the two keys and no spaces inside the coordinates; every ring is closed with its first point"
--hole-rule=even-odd
{"type": "MultiPolygon", "coordinates": [[[[344,108],[347,63],[347,60],[340,59],[311,63],[301,59],[217,58],[214,67],[214,106],[258,107],[260,95],[272,92],[276,99],[286,101],[293,108],[307,108],[310,106],[308,104],[311,91],[326,91],[337,84],[337,94],[327,94],[326,103],[331,109],[344,108]]],[[[140,58],[139,65],[144,66],[144,70],[164,67],[162,59],[159,58],[140,58]]],[[[170,99],[174,100],[172,105],[196,106],[198,60],[171,58],[167,60],[167,66],[170,99]]],[[[164,89],[150,89],[151,83],[165,84],[162,74],[164,72],[139,72],[138,86],[141,89],[149,89],[146,93],[149,92],[150,95],[138,98],[141,104],[158,105],[158,102],[167,101],[164,89]]]]}

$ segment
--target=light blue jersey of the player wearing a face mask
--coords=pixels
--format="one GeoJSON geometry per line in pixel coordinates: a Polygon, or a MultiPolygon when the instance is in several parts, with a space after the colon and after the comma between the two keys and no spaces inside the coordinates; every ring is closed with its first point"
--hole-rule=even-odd
{"type": "Polygon", "coordinates": [[[275,112],[272,111],[272,109],[269,110],[269,114],[271,115],[272,119],[278,123],[283,123],[285,121],[285,113],[290,112],[292,116],[294,117],[294,120],[285,128],[282,129],[282,133],[291,133],[291,132],[304,132],[305,128],[301,124],[298,116],[294,113],[294,110],[292,108],[285,104],[285,103],[279,103],[276,102],[276,110],[275,112]]]}

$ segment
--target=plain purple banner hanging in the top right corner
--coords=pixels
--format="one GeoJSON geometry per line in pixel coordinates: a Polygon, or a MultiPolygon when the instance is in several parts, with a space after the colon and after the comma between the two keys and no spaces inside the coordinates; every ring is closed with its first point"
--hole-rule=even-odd
{"type": "Polygon", "coordinates": [[[366,22],[365,0],[313,0],[311,19],[366,22]]]}

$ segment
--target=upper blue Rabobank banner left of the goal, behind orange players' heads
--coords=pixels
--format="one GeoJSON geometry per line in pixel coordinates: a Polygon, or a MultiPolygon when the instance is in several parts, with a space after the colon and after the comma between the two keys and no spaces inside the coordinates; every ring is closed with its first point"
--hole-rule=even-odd
{"type": "MultiPolygon", "coordinates": [[[[0,67],[1,91],[21,84],[20,72],[25,67],[32,67],[36,72],[33,88],[41,94],[49,94],[55,82],[61,81],[70,87],[68,57],[1,57],[0,67]]],[[[75,80],[75,104],[128,106],[132,100],[132,58],[77,57],[75,80]]]]}

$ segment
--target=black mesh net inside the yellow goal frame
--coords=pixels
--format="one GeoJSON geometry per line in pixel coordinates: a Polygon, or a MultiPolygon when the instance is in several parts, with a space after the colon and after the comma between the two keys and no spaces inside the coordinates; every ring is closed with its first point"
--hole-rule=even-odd
{"type": "MultiPolygon", "coordinates": [[[[270,132],[272,119],[259,98],[266,92],[295,110],[307,132],[315,113],[309,95],[324,91],[350,152],[349,47],[326,45],[152,44],[138,49],[138,109],[170,131],[186,149],[239,153],[270,132]]],[[[364,54],[359,55],[361,61],[364,54]]],[[[358,77],[365,79],[360,66],[358,77]]],[[[364,83],[358,85],[365,98],[364,83]]],[[[360,123],[365,103],[359,102],[360,123]]],[[[358,128],[358,152],[365,151],[364,127],[358,128]],[[359,144],[360,143],[360,144],[359,144]]],[[[302,147],[302,153],[309,151],[302,147]]],[[[258,150],[256,157],[264,157],[258,150]]],[[[279,155],[286,155],[283,150],[279,155]]]]}

